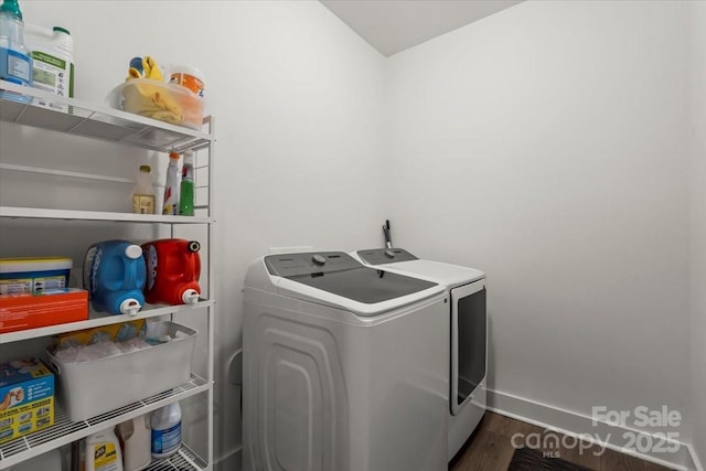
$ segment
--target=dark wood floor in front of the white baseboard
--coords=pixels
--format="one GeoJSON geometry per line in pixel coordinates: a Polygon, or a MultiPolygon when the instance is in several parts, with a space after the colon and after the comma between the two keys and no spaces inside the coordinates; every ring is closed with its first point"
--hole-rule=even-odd
{"type": "MultiPolygon", "coordinates": [[[[545,429],[520,420],[511,419],[493,413],[485,413],[485,417],[473,432],[473,436],[463,446],[449,464],[451,471],[505,471],[515,451],[515,443],[523,442],[523,437],[530,433],[542,433],[545,429]]],[[[535,436],[536,437],[536,436],[535,436]]],[[[571,443],[571,440],[565,441],[571,443]]],[[[532,441],[530,442],[532,443],[532,441]]],[[[592,446],[542,449],[556,458],[570,461],[595,471],[667,471],[668,468],[643,461],[628,454],[606,449],[600,453],[600,448],[592,446]]],[[[531,448],[535,448],[531,446],[531,448]]]]}

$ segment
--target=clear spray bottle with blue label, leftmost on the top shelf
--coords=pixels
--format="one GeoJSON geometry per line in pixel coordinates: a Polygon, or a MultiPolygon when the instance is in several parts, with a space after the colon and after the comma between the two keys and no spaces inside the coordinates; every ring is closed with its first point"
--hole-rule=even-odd
{"type": "Polygon", "coordinates": [[[18,0],[4,0],[0,6],[0,79],[32,86],[32,60],[24,45],[18,0]]]}

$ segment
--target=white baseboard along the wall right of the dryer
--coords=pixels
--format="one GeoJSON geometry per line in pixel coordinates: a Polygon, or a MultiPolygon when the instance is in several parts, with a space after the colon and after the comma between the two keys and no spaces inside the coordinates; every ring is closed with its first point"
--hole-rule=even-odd
{"type": "Polygon", "coordinates": [[[549,430],[556,430],[570,437],[580,437],[582,439],[592,437],[591,441],[601,447],[668,468],[682,471],[704,471],[693,447],[688,443],[681,441],[665,442],[663,438],[655,437],[652,433],[595,420],[592,417],[573,410],[492,389],[488,389],[488,410],[549,430]],[[641,448],[645,451],[638,451],[634,446],[625,448],[631,442],[643,443],[641,448]],[[652,447],[653,443],[654,447],[652,447]],[[657,447],[659,443],[666,445],[670,448],[678,446],[678,449],[672,452],[662,451],[657,447]],[[644,445],[648,446],[645,447],[644,445]]]}

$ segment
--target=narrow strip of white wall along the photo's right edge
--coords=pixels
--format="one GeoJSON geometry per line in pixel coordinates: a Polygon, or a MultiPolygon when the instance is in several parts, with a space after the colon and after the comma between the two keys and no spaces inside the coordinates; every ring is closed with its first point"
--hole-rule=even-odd
{"type": "Polygon", "coordinates": [[[693,443],[706,465],[706,3],[691,4],[692,18],[692,404],[693,443]]]}

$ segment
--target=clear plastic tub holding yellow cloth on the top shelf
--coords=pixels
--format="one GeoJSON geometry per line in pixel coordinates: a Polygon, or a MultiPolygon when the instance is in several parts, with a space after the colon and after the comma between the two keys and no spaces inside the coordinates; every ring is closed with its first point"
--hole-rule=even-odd
{"type": "Polygon", "coordinates": [[[203,100],[181,85],[131,78],[115,87],[107,101],[113,108],[172,125],[192,129],[203,126],[203,100]]]}

